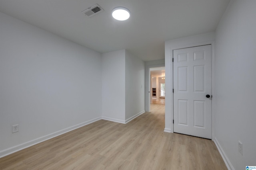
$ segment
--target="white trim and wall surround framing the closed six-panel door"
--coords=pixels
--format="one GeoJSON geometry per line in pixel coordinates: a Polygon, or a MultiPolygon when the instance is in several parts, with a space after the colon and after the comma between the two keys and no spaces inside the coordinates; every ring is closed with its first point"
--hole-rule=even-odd
{"type": "Polygon", "coordinates": [[[214,39],[215,33],[205,33],[200,35],[194,35],[190,37],[184,37],[180,39],[174,39],[165,42],[165,132],[173,133],[173,50],[183,49],[189,47],[196,47],[201,45],[212,45],[212,140],[215,139],[214,131],[214,39]],[[168,78],[170,77],[170,78],[168,78]]]}

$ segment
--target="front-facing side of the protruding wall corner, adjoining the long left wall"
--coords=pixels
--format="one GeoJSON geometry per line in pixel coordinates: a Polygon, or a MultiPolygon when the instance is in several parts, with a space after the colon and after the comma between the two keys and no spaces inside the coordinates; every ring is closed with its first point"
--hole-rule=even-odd
{"type": "Polygon", "coordinates": [[[102,118],[125,123],[125,50],[102,54],[102,118]]]}

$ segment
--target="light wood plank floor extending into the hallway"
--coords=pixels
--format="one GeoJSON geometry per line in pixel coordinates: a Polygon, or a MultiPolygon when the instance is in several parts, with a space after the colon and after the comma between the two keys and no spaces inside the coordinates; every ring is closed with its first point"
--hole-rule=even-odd
{"type": "Polygon", "coordinates": [[[164,105],[127,124],[96,121],[0,158],[1,170],[226,170],[211,140],[166,133],[164,105]]]}

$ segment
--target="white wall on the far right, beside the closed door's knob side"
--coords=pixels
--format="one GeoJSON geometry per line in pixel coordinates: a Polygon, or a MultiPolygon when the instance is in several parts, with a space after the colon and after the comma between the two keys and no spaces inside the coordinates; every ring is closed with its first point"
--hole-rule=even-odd
{"type": "Polygon", "coordinates": [[[216,30],[215,135],[235,170],[256,164],[255,9],[255,0],[231,0],[216,30]]]}

